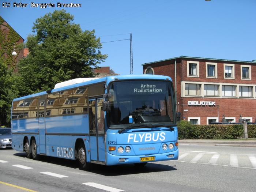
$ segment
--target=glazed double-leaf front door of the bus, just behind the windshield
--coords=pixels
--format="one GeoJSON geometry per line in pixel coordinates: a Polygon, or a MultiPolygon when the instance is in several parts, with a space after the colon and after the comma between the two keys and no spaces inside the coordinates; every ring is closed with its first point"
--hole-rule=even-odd
{"type": "Polygon", "coordinates": [[[92,161],[105,162],[103,98],[89,100],[90,153],[92,161]]]}

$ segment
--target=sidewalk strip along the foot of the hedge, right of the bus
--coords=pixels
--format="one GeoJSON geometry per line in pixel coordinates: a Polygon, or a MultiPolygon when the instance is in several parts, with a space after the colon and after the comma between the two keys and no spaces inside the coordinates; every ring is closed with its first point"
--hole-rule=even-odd
{"type": "Polygon", "coordinates": [[[178,143],[212,143],[215,144],[215,146],[256,147],[256,140],[180,139],[178,143]]]}

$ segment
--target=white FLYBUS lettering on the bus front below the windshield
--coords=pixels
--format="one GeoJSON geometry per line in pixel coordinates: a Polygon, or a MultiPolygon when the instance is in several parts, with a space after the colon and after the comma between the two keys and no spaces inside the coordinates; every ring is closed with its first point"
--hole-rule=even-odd
{"type": "MultiPolygon", "coordinates": [[[[136,133],[135,134],[129,134],[128,135],[128,140],[127,143],[130,142],[130,140],[132,140],[133,142],[139,142],[138,140],[136,140],[136,133]]],[[[144,142],[150,142],[151,140],[153,141],[164,141],[165,140],[165,132],[161,132],[161,133],[143,133],[143,134],[138,134],[139,138],[140,138],[140,142],[144,141],[144,142]]],[[[138,137],[137,137],[138,138],[138,137]]]]}

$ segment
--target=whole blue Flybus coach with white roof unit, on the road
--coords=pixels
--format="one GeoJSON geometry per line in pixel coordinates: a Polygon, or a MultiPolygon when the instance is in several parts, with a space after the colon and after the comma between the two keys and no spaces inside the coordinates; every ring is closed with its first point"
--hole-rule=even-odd
{"type": "Polygon", "coordinates": [[[172,79],[161,75],[81,78],[12,102],[12,148],[121,165],[178,159],[172,79]]]}

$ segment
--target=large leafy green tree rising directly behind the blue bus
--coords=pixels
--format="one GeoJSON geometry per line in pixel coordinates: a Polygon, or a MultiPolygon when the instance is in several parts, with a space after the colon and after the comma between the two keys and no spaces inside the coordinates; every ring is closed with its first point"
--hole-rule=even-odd
{"type": "Polygon", "coordinates": [[[82,31],[65,10],[36,19],[35,35],[28,35],[29,55],[20,60],[20,95],[53,89],[54,84],[74,78],[93,77],[91,67],[103,62],[100,39],[94,30],[82,31]]]}

